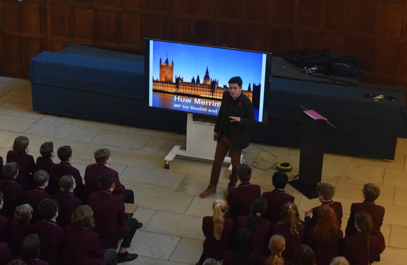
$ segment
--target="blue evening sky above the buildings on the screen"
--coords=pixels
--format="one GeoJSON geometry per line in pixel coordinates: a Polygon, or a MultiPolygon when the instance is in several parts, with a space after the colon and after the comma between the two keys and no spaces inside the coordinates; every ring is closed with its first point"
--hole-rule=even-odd
{"type": "Polygon", "coordinates": [[[240,76],[243,80],[243,89],[247,90],[249,83],[261,83],[262,53],[250,53],[219,49],[204,46],[185,45],[171,42],[153,42],[153,78],[159,79],[159,62],[174,60],[175,76],[183,77],[190,82],[192,77],[201,80],[208,67],[211,79],[219,79],[219,86],[228,85],[231,77],[240,76]]]}

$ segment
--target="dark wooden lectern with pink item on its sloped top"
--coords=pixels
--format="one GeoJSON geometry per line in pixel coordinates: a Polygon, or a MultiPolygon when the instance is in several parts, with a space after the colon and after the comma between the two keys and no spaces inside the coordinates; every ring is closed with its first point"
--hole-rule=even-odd
{"type": "Polygon", "coordinates": [[[308,199],[318,198],[316,187],[321,182],[326,129],[327,120],[324,117],[313,110],[303,111],[299,179],[290,181],[288,184],[308,199]]]}

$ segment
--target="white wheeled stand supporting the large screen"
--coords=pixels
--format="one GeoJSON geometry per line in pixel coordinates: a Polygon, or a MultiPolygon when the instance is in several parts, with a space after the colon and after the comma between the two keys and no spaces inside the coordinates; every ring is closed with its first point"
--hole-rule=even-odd
{"type": "MultiPolygon", "coordinates": [[[[180,145],[174,146],[174,148],[164,158],[165,168],[170,168],[170,161],[176,156],[190,157],[214,160],[216,142],[213,140],[213,129],[215,124],[204,123],[192,120],[192,113],[188,113],[187,125],[186,125],[186,150],[181,150],[180,145]]],[[[240,156],[240,160],[243,161],[243,155],[240,156]]],[[[230,157],[225,157],[224,162],[231,163],[230,157]]],[[[229,166],[229,175],[232,170],[232,165],[229,166]]]]}

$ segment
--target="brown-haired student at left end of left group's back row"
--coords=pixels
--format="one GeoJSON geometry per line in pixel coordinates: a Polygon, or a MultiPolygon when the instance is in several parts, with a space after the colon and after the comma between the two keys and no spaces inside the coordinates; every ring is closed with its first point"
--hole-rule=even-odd
{"type": "Polygon", "coordinates": [[[35,162],[31,155],[28,155],[30,142],[25,136],[18,136],[14,140],[13,150],[7,152],[7,163],[15,162],[20,166],[17,183],[25,190],[30,190],[32,186],[32,174],[34,174],[35,162]]]}

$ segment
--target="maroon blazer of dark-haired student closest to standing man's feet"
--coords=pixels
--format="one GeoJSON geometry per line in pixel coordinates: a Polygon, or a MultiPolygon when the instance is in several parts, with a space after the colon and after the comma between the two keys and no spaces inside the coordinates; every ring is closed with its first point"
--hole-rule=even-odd
{"type": "Polygon", "coordinates": [[[250,207],[254,199],[260,195],[260,186],[252,185],[250,182],[241,183],[230,190],[226,200],[230,207],[231,219],[236,222],[237,217],[249,215],[251,212],[250,207]]]}

